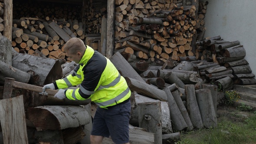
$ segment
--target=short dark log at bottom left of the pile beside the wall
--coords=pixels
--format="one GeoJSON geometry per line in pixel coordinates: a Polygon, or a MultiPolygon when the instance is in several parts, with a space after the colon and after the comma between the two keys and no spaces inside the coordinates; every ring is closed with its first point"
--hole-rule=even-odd
{"type": "Polygon", "coordinates": [[[213,84],[217,85],[218,89],[220,89],[221,91],[233,89],[234,86],[234,82],[229,76],[218,79],[217,81],[213,82],[213,84]]]}

